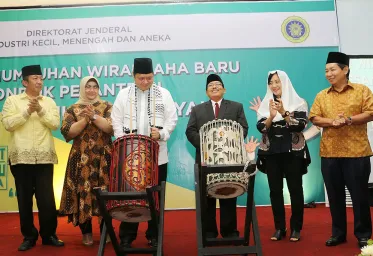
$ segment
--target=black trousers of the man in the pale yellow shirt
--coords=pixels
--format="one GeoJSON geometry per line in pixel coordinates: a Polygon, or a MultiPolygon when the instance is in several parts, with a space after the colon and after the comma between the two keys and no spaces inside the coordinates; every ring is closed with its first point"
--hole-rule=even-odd
{"type": "Polygon", "coordinates": [[[57,210],[53,192],[53,164],[10,165],[14,176],[21,232],[25,240],[37,240],[32,212],[33,195],[39,210],[39,234],[42,238],[55,235],[57,210]]]}

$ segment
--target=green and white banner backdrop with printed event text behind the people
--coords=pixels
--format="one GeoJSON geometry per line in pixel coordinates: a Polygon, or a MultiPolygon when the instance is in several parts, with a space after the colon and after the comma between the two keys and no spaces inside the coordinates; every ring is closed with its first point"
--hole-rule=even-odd
{"type": "MultiPolygon", "coordinates": [[[[221,75],[225,98],[243,103],[249,136],[260,138],[249,101],[265,95],[268,71],[287,72],[310,107],[316,93],[328,86],[325,59],[329,51],[338,50],[336,24],[333,1],[0,11],[0,109],[8,95],[22,90],[24,65],[42,66],[43,94],[54,98],[62,117],[65,108],[77,100],[82,77],[98,77],[102,98],[114,102],[119,90],[133,82],[133,59],[152,58],[155,82],[171,92],[179,116],[168,142],[167,208],[191,208],[195,151],[185,128],[191,108],[207,100],[208,74],[221,75]],[[320,19],[331,25],[319,25],[320,19]]],[[[2,127],[0,133],[0,200],[5,203],[0,211],[16,211],[15,186],[6,163],[9,134],[2,127]]],[[[55,172],[59,206],[70,145],[62,141],[59,130],[53,135],[59,154],[55,172]]],[[[323,202],[319,139],[308,145],[312,163],[303,177],[305,201],[323,202]]],[[[290,203],[286,188],[284,194],[290,203]]],[[[257,174],[255,202],[270,204],[262,173],[257,174]]],[[[238,203],[244,205],[245,199],[239,198],[238,203]]]]}

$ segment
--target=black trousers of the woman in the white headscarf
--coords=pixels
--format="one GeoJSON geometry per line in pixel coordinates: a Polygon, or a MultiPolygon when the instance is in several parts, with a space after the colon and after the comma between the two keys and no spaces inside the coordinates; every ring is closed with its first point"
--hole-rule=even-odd
{"type": "Polygon", "coordinates": [[[296,231],[302,230],[304,213],[303,163],[303,159],[294,156],[292,153],[273,154],[267,157],[266,170],[276,230],[286,229],[283,195],[284,176],[291,201],[290,228],[296,231]]]}

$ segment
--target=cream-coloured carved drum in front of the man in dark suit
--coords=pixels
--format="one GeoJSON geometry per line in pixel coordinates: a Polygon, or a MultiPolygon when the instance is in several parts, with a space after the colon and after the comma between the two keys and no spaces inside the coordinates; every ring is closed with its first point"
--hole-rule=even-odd
{"type": "MultiPolygon", "coordinates": [[[[200,130],[202,165],[245,165],[242,126],[232,120],[213,120],[200,130]]],[[[235,198],[247,191],[249,174],[243,172],[211,173],[207,175],[207,193],[219,199],[235,198]]]]}

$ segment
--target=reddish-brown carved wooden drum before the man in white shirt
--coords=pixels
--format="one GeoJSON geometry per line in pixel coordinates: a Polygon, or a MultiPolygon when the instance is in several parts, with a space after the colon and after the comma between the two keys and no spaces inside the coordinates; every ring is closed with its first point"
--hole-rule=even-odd
{"type": "MultiPolygon", "coordinates": [[[[145,192],[157,185],[159,144],[144,135],[124,135],[113,143],[109,192],[145,192]]],[[[154,197],[156,208],[158,197],[154,197]]],[[[151,219],[146,200],[110,200],[113,219],[142,222],[151,219]]]]}

